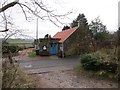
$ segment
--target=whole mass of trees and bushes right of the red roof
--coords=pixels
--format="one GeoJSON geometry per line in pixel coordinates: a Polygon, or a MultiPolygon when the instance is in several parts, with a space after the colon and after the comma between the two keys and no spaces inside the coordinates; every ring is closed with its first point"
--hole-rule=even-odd
{"type": "Polygon", "coordinates": [[[74,43],[68,49],[69,55],[80,55],[81,63],[77,68],[117,80],[119,78],[119,32],[109,32],[99,17],[88,24],[84,14],[79,14],[70,24],[71,28],[77,26],[79,32],[75,34],[76,38],[71,39],[74,43]],[[78,47],[75,48],[75,45],[78,47]]]}

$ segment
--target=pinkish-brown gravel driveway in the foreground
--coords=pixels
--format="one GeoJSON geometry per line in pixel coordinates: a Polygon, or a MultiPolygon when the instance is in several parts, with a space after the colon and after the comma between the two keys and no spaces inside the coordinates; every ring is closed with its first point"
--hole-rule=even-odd
{"type": "MultiPolygon", "coordinates": [[[[118,83],[78,76],[73,70],[34,75],[37,88],[117,88],[118,83]]],[[[106,89],[107,90],[107,89],[106,89]]],[[[113,89],[114,90],[114,89],[113,89]]],[[[116,90],[116,89],[115,89],[116,90]]]]}

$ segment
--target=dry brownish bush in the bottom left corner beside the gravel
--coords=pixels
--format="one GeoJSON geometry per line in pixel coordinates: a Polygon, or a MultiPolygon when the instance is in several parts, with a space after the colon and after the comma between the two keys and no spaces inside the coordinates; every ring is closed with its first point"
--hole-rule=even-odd
{"type": "Polygon", "coordinates": [[[24,73],[18,63],[10,64],[6,59],[3,62],[2,88],[35,88],[32,77],[24,73]]]}

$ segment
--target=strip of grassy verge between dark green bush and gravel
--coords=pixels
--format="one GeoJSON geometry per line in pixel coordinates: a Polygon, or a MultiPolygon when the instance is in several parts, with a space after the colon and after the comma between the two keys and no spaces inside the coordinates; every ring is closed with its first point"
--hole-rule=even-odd
{"type": "Polygon", "coordinates": [[[78,75],[82,75],[84,77],[89,78],[96,78],[96,79],[102,79],[102,80],[110,80],[117,82],[116,74],[108,73],[105,71],[91,71],[91,70],[84,70],[81,64],[78,64],[74,67],[74,71],[78,75]],[[94,77],[93,77],[94,76],[94,77]]]}

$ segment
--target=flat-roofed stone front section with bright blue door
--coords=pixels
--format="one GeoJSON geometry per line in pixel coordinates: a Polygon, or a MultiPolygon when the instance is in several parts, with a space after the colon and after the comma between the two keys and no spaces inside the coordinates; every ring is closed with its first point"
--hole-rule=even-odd
{"type": "Polygon", "coordinates": [[[35,45],[39,46],[39,55],[57,55],[59,51],[58,38],[40,38],[35,40],[35,45]]]}

